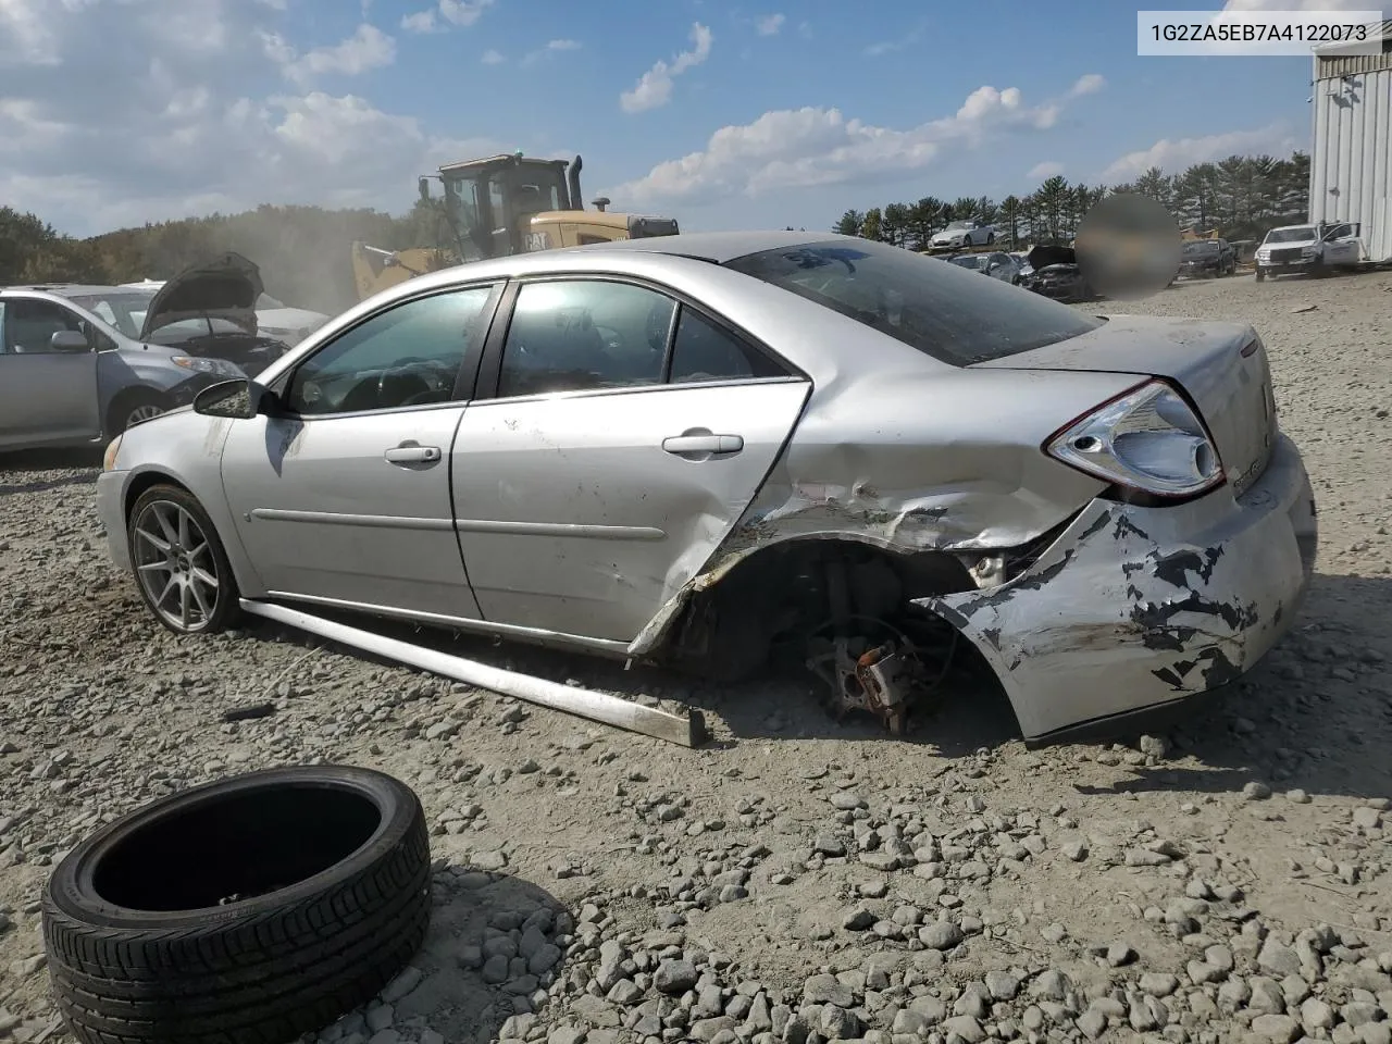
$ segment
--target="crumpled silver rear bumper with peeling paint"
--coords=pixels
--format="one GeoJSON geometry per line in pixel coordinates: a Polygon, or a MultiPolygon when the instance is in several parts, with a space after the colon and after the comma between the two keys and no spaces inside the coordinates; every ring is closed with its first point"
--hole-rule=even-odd
{"type": "Polygon", "coordinates": [[[1221,689],[1289,631],[1314,569],[1314,496],[1281,436],[1239,500],[1096,500],[1020,576],[919,599],[986,657],[1029,741],[1221,689]]]}

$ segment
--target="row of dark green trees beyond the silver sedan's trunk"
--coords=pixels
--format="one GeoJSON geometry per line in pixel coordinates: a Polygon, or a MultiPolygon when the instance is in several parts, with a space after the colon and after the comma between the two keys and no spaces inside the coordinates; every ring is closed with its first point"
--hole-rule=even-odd
{"type": "Polygon", "coordinates": [[[1083,216],[1104,196],[1134,192],[1158,199],[1182,228],[1218,228],[1226,239],[1260,239],[1267,230],[1307,220],[1310,156],[1229,156],[1197,163],[1182,174],[1151,167],[1123,185],[1069,184],[1055,175],[1033,192],[997,202],[988,196],[954,200],[923,196],[915,203],[888,203],[846,210],[832,230],[880,239],[915,251],[928,249],[933,235],[960,219],[980,219],[997,228],[1002,246],[1069,242],[1083,216]]]}

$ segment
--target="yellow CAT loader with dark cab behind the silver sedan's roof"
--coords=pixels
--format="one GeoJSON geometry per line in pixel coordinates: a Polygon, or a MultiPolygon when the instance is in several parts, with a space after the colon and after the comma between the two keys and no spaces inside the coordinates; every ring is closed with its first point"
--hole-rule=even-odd
{"type": "Polygon", "coordinates": [[[352,245],[358,299],[450,264],[504,258],[558,246],[583,246],[614,239],[677,235],[672,217],[621,214],[606,210],[608,199],[580,202],[580,166],[565,160],[523,157],[521,152],[464,160],[422,177],[420,199],[440,219],[434,246],[384,251],[352,245]],[[444,188],[432,196],[430,181],[444,188]]]}

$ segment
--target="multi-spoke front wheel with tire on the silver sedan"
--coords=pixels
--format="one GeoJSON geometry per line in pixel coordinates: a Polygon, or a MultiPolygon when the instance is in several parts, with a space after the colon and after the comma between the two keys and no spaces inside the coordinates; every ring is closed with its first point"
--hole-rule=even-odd
{"type": "Polygon", "coordinates": [[[145,490],[127,515],[125,540],[141,600],[168,631],[214,635],[241,615],[227,551],[188,490],[145,490]]]}

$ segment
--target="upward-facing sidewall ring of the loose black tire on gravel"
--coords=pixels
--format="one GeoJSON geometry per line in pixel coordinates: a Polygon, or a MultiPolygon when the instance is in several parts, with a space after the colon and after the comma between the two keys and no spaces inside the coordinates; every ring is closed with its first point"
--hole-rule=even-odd
{"type": "MultiPolygon", "coordinates": [[[[81,924],[127,931],[177,931],[198,927],[224,930],[271,910],[313,902],[337,883],[354,877],[390,856],[422,816],[420,800],[411,788],[400,780],[370,768],[341,766],[267,768],[232,780],[219,780],[160,798],[107,824],[79,842],[58,863],[45,887],[45,913],[47,915],[52,908],[53,912],[81,924]],[[380,821],[367,841],[333,866],[303,881],[296,881],[288,888],[231,902],[226,906],[195,910],[132,910],[103,899],[93,888],[92,881],[100,860],[139,830],[166,816],[187,813],[231,793],[246,793],[277,785],[351,789],[376,805],[380,821]]],[[[45,916],[45,922],[47,922],[47,916],[45,916]]]]}

